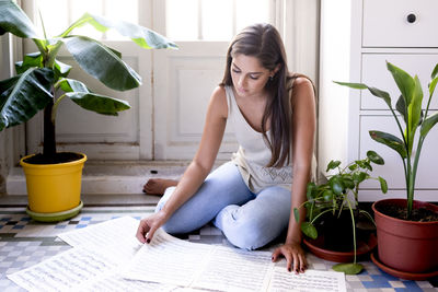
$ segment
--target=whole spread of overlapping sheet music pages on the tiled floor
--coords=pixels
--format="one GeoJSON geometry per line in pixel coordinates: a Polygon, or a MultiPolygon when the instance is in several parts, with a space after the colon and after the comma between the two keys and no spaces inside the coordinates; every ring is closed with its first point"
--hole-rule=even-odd
{"type": "Polygon", "coordinates": [[[288,272],[268,252],[189,243],[158,230],[150,244],[139,221],[110,220],[60,234],[73,248],[9,275],[28,291],[346,291],[335,271],[288,272]]]}

